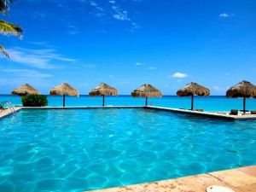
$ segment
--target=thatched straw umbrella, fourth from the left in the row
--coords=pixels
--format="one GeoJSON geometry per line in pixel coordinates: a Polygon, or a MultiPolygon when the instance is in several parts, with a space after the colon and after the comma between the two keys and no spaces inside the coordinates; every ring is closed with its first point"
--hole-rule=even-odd
{"type": "Polygon", "coordinates": [[[141,87],[131,92],[132,97],[146,97],[146,106],[148,105],[148,97],[162,97],[160,90],[154,88],[151,84],[143,84],[141,87]]]}

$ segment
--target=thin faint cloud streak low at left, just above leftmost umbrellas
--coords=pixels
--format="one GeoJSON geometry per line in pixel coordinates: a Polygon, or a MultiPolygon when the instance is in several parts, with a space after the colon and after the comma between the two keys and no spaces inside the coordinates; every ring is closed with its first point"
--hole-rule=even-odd
{"type": "Polygon", "coordinates": [[[35,70],[27,70],[27,69],[2,69],[4,73],[12,73],[15,77],[24,77],[24,78],[49,78],[53,75],[39,73],[35,70]]]}

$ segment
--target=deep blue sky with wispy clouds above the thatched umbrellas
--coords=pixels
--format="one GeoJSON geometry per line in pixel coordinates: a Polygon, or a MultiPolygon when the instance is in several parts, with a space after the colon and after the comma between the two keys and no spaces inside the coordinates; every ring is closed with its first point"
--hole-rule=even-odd
{"type": "Polygon", "coordinates": [[[255,10],[255,0],[20,0],[0,18],[25,31],[0,36],[11,55],[0,56],[0,94],[67,82],[82,95],[101,83],[176,95],[196,82],[225,95],[256,84],[255,10]]]}

